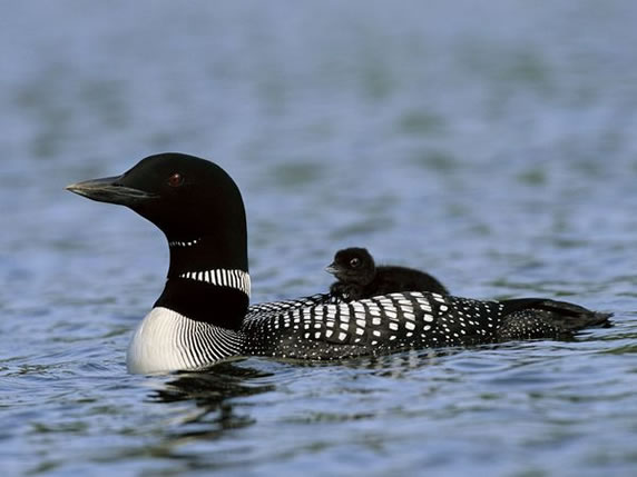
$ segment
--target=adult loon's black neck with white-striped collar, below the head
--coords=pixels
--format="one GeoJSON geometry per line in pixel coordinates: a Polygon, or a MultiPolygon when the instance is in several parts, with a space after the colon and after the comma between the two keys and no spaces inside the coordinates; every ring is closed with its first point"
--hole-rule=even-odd
{"type": "Polygon", "coordinates": [[[170,266],[156,307],[238,329],[249,304],[245,235],[170,237],[170,266]]]}

